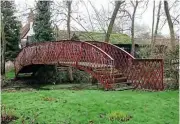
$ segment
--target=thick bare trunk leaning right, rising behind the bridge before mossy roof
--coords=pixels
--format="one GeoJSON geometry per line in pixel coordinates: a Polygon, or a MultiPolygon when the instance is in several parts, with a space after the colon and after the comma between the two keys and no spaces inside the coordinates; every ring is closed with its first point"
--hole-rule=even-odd
{"type": "Polygon", "coordinates": [[[108,30],[107,30],[107,33],[106,33],[106,36],[105,36],[105,42],[107,42],[107,43],[109,42],[109,38],[110,38],[110,35],[112,33],[112,28],[113,28],[113,25],[114,25],[114,21],[116,19],[116,15],[117,15],[118,10],[120,8],[120,5],[122,3],[124,3],[124,1],[116,1],[116,5],[115,5],[115,8],[114,8],[113,14],[111,16],[111,20],[110,20],[108,30]]]}

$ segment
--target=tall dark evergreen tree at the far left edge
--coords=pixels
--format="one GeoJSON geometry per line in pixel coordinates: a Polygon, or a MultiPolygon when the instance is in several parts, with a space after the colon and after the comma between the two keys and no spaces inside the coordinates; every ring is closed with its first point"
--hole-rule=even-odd
{"type": "Polygon", "coordinates": [[[1,14],[4,24],[4,34],[6,41],[5,58],[12,60],[19,52],[20,22],[14,15],[15,4],[13,1],[1,1],[1,14]]]}

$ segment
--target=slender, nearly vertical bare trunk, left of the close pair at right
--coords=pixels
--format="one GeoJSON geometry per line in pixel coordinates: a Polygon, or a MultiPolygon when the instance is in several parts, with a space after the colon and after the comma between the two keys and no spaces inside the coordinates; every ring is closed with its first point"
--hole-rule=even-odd
{"type": "Polygon", "coordinates": [[[154,43],[154,18],[155,18],[155,0],[153,2],[153,20],[152,20],[152,30],[151,30],[151,54],[153,53],[153,43],[154,43]]]}

